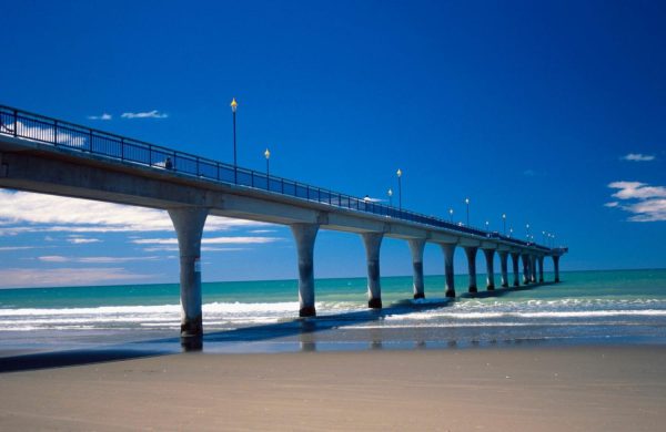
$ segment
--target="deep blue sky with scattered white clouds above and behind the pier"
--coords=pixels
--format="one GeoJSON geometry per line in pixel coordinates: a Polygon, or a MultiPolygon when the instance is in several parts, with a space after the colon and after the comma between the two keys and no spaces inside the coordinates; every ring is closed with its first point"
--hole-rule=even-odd
{"type": "MultiPolygon", "coordinates": [[[[666,265],[658,1],[7,1],[0,104],[569,247],[666,265]]],[[[382,274],[410,275],[384,239],[382,274]]],[[[481,254],[480,271],[484,270],[481,254]]],[[[297,277],[287,227],[210,217],[203,280],[297,277]]],[[[552,263],[546,261],[546,270],[552,263]]],[[[443,274],[428,245],[426,274],[443,274]]],[[[462,250],[456,272],[466,272],[462,250]]],[[[315,277],[365,275],[320,230],[315,277]]],[[[0,189],[0,288],[178,281],[164,212],[0,189]]]]}

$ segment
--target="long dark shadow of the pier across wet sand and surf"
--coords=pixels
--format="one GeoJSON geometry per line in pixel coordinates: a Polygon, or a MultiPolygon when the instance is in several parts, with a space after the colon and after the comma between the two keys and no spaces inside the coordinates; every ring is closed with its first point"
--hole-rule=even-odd
{"type": "MultiPolygon", "coordinates": [[[[543,282],[521,287],[498,288],[492,291],[480,291],[476,294],[465,292],[456,297],[456,299],[501,297],[514,291],[531,290],[547,285],[552,284],[543,282]]],[[[456,301],[456,299],[405,299],[396,301],[387,307],[384,307],[383,309],[367,309],[345,313],[322,315],[312,318],[295,318],[276,323],[250,326],[228,331],[204,333],[202,338],[164,338],[103,346],[93,349],[71,349],[0,357],[0,373],[169,356],[179,352],[201,351],[203,347],[208,344],[212,346],[238,342],[252,343],[293,337],[299,337],[299,339],[294,339],[294,343],[300,343],[302,351],[314,351],[316,349],[316,340],[314,340],[312,336],[317,332],[334,330],[339,327],[354,322],[363,323],[381,321],[387,316],[407,315],[414,311],[438,309],[451,306],[456,301]]],[[[371,341],[370,343],[371,349],[381,347],[381,339],[371,341]]]]}

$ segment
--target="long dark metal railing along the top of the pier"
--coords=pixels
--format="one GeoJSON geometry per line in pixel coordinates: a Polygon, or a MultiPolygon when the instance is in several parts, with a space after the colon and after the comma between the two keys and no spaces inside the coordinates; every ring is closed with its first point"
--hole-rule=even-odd
{"type": "Polygon", "coordinates": [[[59,148],[94,154],[129,164],[171,171],[196,178],[263,189],[339,208],[364,212],[453,232],[472,234],[484,238],[502,239],[521,246],[551,250],[548,247],[504,236],[496,232],[486,232],[471,226],[456,225],[434,216],[403,210],[326,188],[268,175],[266,173],[234,167],[222,162],[46,117],[10,106],[0,105],[0,134],[28,138],[59,148]]]}

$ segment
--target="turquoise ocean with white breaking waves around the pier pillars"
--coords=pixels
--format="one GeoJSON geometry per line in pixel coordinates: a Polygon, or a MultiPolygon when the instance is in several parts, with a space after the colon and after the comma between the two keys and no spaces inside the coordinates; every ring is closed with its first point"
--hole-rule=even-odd
{"type": "MultiPolygon", "coordinates": [[[[381,311],[366,308],[365,278],[321,279],[313,319],[296,318],[295,280],[204,282],[203,350],[666,343],[666,269],[561,278],[473,297],[457,276],[450,300],[444,277],[426,276],[426,299],[412,300],[411,277],[385,277],[381,311]]],[[[171,352],[180,350],[179,329],[178,284],[0,290],[0,357],[119,344],[171,352]]]]}

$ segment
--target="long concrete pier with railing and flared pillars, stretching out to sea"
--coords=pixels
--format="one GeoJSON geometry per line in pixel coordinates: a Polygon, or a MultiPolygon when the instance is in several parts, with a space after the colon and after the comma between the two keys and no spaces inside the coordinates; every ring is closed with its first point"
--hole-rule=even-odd
{"type": "Polygon", "coordinates": [[[544,281],[545,257],[552,257],[554,280],[559,281],[559,257],[568,250],[455,225],[2,105],[0,187],[168,210],[180,249],[183,338],[203,333],[200,257],[209,215],[291,227],[299,263],[301,317],[316,315],[314,245],[320,229],[360,235],[366,253],[367,306],[374,309],[382,308],[380,251],[384,237],[407,241],[416,299],[425,297],[423,253],[427,243],[442,247],[446,297],[456,295],[456,248],[462,248],[467,257],[470,292],[478,290],[480,249],[485,257],[488,290],[495,289],[495,255],[501,263],[501,285],[508,287],[509,256],[513,286],[518,286],[519,260],[523,284],[535,284],[544,281]]]}

